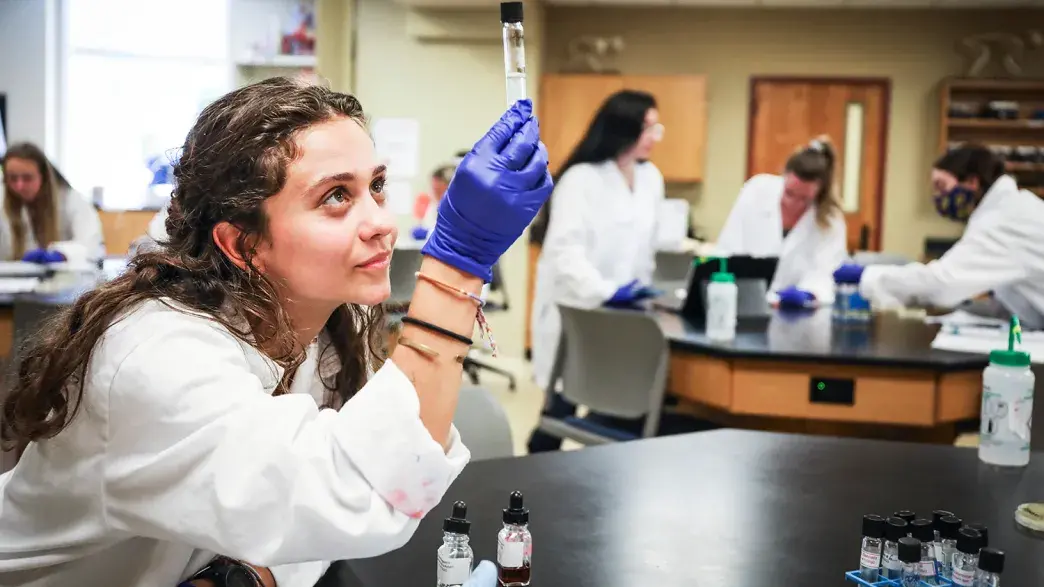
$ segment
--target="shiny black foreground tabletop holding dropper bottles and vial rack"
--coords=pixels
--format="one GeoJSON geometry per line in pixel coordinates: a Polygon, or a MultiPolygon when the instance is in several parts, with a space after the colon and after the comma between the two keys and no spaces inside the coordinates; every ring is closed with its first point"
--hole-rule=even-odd
{"type": "Polygon", "coordinates": [[[348,564],[364,585],[433,585],[457,499],[476,562],[495,560],[516,489],[530,509],[533,587],[840,586],[858,566],[863,514],[936,509],[988,525],[1005,584],[1044,585],[1044,540],[1013,521],[1020,503],[1044,500],[1044,454],[1000,470],[971,449],[741,430],[474,463],[405,547],[348,564]]]}

